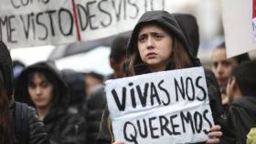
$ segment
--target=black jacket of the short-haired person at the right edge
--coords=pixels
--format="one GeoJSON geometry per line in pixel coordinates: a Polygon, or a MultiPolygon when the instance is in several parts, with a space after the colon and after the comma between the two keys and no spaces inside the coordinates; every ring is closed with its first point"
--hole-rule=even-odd
{"type": "Polygon", "coordinates": [[[256,126],[256,97],[243,97],[230,104],[227,125],[236,144],[246,143],[247,134],[256,126]]]}

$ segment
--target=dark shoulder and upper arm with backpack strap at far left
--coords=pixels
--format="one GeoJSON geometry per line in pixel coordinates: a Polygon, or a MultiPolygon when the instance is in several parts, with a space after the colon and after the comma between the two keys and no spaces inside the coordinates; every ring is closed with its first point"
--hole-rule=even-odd
{"type": "Polygon", "coordinates": [[[48,133],[43,122],[38,119],[35,108],[15,101],[9,102],[9,108],[14,119],[16,141],[48,144],[48,133]]]}

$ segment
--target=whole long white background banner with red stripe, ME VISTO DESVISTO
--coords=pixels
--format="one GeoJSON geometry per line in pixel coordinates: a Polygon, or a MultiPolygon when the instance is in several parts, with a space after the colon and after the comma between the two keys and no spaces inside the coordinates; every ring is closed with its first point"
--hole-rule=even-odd
{"type": "Polygon", "coordinates": [[[87,41],[132,30],[145,11],[175,0],[1,0],[0,40],[9,48],[87,41]]]}

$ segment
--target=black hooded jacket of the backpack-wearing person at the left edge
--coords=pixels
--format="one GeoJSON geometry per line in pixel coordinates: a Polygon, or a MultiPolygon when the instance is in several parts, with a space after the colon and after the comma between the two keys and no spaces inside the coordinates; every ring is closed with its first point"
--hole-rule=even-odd
{"type": "MultiPolygon", "coordinates": [[[[5,93],[9,98],[9,116],[13,131],[16,131],[16,103],[11,100],[13,94],[13,67],[10,53],[5,44],[0,41],[0,71],[2,81],[4,81],[5,93]]],[[[27,143],[48,144],[48,134],[42,121],[37,118],[37,112],[34,108],[27,107],[27,143]]],[[[18,133],[15,133],[14,144],[20,144],[20,139],[17,139],[18,133]]]]}

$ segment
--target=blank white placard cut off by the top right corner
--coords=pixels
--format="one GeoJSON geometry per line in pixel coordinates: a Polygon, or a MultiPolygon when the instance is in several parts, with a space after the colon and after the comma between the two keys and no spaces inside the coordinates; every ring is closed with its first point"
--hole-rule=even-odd
{"type": "Polygon", "coordinates": [[[255,50],[255,0],[223,0],[222,8],[227,56],[255,50]]]}

